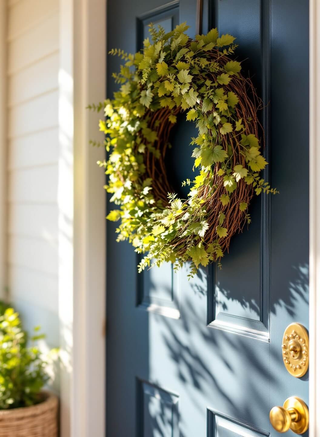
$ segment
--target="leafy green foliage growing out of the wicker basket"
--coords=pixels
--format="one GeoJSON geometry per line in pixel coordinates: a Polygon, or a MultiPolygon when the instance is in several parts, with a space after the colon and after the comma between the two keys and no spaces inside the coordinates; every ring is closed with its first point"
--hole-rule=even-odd
{"type": "MultiPolygon", "coordinates": [[[[45,338],[34,328],[29,339],[13,308],[0,316],[0,409],[31,406],[43,401],[41,389],[48,382],[48,361],[37,346],[45,338]]],[[[52,350],[55,352],[55,350],[52,350]]]]}

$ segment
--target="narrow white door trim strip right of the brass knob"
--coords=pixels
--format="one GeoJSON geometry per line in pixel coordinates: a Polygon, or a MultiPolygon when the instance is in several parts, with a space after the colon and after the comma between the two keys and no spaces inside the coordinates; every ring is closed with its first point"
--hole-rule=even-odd
{"type": "Polygon", "coordinates": [[[310,0],[310,437],[320,435],[320,3],[310,0]]]}

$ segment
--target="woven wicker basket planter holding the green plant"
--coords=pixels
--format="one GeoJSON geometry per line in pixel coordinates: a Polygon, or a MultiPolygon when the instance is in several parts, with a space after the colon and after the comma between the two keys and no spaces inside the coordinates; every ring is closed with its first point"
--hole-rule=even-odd
{"type": "Polygon", "coordinates": [[[31,407],[0,410],[0,437],[58,437],[58,398],[31,407]]]}

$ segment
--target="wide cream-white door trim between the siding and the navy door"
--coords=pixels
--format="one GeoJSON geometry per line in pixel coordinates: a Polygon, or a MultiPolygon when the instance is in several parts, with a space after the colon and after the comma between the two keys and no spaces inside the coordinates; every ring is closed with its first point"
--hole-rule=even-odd
{"type": "Polygon", "coordinates": [[[61,437],[105,435],[105,183],[99,115],[106,83],[106,0],[60,0],[59,320],[61,437]]]}

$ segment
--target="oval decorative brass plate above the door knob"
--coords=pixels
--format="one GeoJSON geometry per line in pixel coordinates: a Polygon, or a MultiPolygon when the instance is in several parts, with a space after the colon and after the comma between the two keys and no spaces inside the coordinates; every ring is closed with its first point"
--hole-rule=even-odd
{"type": "Polygon", "coordinates": [[[309,336],[299,323],[287,326],[282,339],[282,357],[287,371],[296,378],[306,374],[309,367],[309,336]]]}

